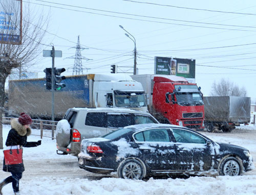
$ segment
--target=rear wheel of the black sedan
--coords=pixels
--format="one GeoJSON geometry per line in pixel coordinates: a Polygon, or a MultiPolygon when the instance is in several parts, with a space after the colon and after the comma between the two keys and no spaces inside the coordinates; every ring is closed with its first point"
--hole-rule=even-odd
{"type": "Polygon", "coordinates": [[[144,168],[136,159],[126,159],[118,169],[118,177],[123,179],[141,180],[144,175],[144,168]]]}

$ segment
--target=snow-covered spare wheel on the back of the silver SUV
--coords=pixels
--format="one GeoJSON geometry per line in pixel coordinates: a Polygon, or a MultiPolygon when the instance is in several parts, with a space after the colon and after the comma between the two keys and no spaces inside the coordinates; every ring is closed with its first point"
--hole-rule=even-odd
{"type": "Polygon", "coordinates": [[[56,142],[60,147],[67,147],[70,143],[71,127],[66,119],[58,121],[56,126],[56,142]]]}

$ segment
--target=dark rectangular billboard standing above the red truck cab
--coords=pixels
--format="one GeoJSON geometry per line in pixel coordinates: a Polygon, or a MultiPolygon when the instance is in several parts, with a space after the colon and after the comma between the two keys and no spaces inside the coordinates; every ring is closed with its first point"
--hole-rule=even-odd
{"type": "Polygon", "coordinates": [[[182,76],[195,82],[196,60],[155,56],[155,74],[182,76]]]}

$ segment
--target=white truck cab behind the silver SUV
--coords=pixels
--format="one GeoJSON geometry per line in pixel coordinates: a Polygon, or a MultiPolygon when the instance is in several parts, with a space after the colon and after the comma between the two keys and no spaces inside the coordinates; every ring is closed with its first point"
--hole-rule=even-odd
{"type": "Polygon", "coordinates": [[[141,83],[125,74],[91,74],[95,107],[128,108],[147,112],[141,83]]]}

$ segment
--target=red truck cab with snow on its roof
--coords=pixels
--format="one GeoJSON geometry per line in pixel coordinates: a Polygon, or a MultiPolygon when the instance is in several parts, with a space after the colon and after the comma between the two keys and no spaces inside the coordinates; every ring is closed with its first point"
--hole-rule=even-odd
{"type": "Polygon", "coordinates": [[[152,97],[155,117],[162,123],[203,129],[204,103],[200,89],[184,77],[155,76],[152,97]]]}

